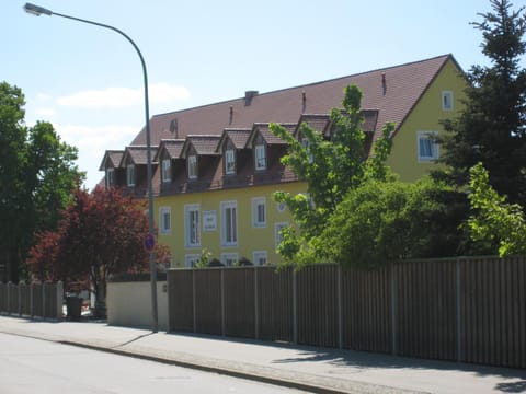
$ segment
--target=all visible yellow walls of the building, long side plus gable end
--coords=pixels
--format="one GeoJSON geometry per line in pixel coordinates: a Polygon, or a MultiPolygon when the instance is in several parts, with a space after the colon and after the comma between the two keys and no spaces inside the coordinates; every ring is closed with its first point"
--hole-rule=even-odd
{"type": "MultiPolygon", "coordinates": [[[[413,182],[436,167],[437,164],[433,160],[419,160],[421,158],[419,157],[419,132],[444,132],[441,120],[458,116],[465,88],[466,80],[461,76],[461,70],[453,59],[449,59],[393,136],[393,148],[388,165],[400,175],[401,181],[413,182]],[[451,103],[448,103],[448,100],[451,100],[451,103]],[[448,108],[445,104],[451,107],[448,108]]],[[[210,253],[211,258],[221,262],[226,258],[238,260],[245,257],[258,264],[258,253],[260,253],[259,256],[266,256],[266,263],[279,263],[282,259],[276,254],[277,227],[293,223],[288,210],[278,209],[278,205],[273,200],[272,195],[276,190],[290,194],[305,193],[306,185],[301,182],[291,182],[156,197],[158,242],[170,247],[171,267],[190,266],[204,250],[210,253]],[[264,227],[254,227],[254,198],[265,201],[264,227]],[[225,202],[236,207],[237,219],[237,242],[228,246],[224,243],[226,219],[222,204],[225,202]],[[198,243],[194,245],[188,245],[187,242],[187,207],[198,211],[198,243]],[[159,223],[162,222],[161,213],[167,211],[170,212],[170,229],[163,231],[159,223]]]]}

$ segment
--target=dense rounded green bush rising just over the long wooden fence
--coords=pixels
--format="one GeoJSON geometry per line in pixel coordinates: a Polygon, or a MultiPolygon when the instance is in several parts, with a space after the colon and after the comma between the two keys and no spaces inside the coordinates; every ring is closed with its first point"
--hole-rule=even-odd
{"type": "Polygon", "coordinates": [[[369,179],[351,189],[316,240],[319,258],[371,268],[392,259],[436,257],[445,184],[369,179]]]}

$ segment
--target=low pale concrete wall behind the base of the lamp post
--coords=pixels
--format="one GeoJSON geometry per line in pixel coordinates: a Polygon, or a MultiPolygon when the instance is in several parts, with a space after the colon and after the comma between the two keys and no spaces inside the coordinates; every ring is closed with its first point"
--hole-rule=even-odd
{"type": "MultiPolygon", "coordinates": [[[[107,283],[107,323],[151,327],[151,287],[149,281],[107,283]]],[[[168,331],[167,282],[157,282],[159,329],[168,331]]]]}

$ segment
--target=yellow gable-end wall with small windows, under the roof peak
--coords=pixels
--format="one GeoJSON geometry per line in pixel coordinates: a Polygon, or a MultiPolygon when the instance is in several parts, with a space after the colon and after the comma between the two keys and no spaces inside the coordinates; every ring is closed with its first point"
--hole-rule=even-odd
{"type": "MultiPolygon", "coordinates": [[[[445,132],[441,120],[453,119],[462,108],[466,79],[456,62],[449,59],[424,92],[393,138],[387,164],[403,182],[414,182],[436,169],[434,161],[419,160],[419,131],[445,132]],[[453,93],[453,109],[443,109],[443,93],[453,93]]],[[[439,154],[439,152],[438,152],[439,154]]]]}

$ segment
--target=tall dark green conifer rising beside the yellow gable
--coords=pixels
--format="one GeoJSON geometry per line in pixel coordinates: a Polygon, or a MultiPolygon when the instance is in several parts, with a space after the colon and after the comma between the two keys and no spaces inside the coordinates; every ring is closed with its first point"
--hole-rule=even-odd
{"type": "MultiPolygon", "coordinates": [[[[482,53],[488,67],[473,66],[467,78],[465,109],[445,123],[450,135],[443,138],[442,162],[446,176],[464,188],[469,169],[482,162],[490,183],[512,202],[526,204],[526,70],[519,61],[526,51],[524,7],[513,11],[507,0],[491,0],[492,11],[472,23],[482,32],[482,53]]],[[[467,210],[466,210],[467,212],[467,210]]]]}

